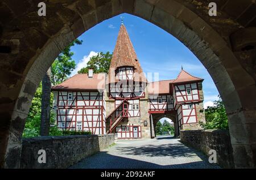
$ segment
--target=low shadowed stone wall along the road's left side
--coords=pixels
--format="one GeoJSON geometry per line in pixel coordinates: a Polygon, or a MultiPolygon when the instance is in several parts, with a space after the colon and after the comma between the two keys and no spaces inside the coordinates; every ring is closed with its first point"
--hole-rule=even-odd
{"type": "Polygon", "coordinates": [[[23,139],[20,168],[68,168],[114,143],[114,134],[43,136],[23,139]],[[46,151],[46,164],[39,164],[38,151],[46,151]]]}

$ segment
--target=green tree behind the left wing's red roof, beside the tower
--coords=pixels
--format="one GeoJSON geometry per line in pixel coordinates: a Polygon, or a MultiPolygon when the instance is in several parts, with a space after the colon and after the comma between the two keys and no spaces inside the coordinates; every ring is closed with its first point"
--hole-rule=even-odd
{"type": "Polygon", "coordinates": [[[109,72],[110,62],[112,59],[112,55],[109,52],[106,54],[98,53],[90,58],[90,61],[87,63],[87,67],[81,68],[78,72],[79,74],[86,74],[89,71],[89,68],[93,68],[94,73],[100,72],[109,72]]]}

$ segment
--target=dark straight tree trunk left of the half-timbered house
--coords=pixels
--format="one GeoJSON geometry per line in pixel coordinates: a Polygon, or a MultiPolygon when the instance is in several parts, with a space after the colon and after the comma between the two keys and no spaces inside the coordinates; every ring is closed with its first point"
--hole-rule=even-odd
{"type": "Polygon", "coordinates": [[[51,67],[42,80],[42,106],[41,106],[41,128],[40,135],[48,136],[51,113],[51,67]]]}

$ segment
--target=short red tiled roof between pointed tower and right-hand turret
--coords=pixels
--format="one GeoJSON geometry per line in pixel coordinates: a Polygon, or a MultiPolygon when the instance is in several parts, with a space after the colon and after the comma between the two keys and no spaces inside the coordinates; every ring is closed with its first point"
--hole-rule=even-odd
{"type": "Polygon", "coordinates": [[[167,94],[170,93],[170,83],[174,80],[161,80],[159,82],[151,82],[148,85],[148,94],[167,94]]]}

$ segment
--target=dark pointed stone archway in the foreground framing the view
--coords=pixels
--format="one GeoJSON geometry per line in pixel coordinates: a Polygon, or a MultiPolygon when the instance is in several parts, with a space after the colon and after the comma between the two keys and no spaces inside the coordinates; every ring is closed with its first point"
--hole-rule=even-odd
{"type": "MultiPolygon", "coordinates": [[[[241,41],[243,33],[236,33],[255,26],[255,19],[242,16],[253,13],[249,7],[254,2],[218,1],[217,18],[208,15],[203,0],[49,0],[46,17],[38,16],[36,2],[0,3],[4,17],[0,19],[0,55],[5,59],[0,64],[1,167],[19,167],[22,131],[32,97],[61,50],[87,29],[127,12],[166,30],[200,59],[224,100],[236,167],[255,168],[256,52],[251,48],[255,41],[241,41]]],[[[251,33],[250,41],[255,34],[251,33]]]]}

